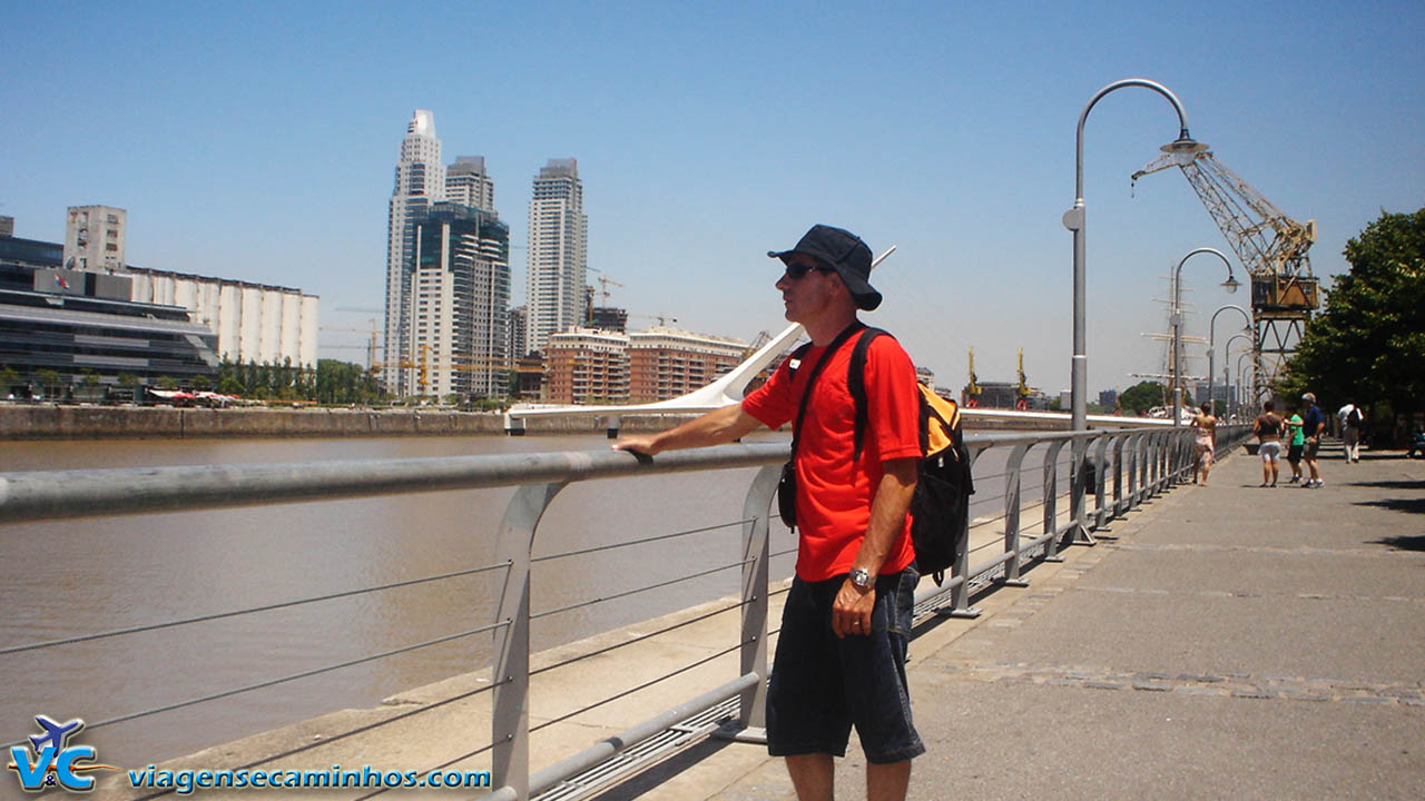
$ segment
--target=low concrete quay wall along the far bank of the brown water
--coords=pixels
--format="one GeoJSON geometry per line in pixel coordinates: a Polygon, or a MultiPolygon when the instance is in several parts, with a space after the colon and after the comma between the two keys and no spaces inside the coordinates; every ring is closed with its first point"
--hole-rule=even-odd
{"type": "MultiPolygon", "coordinates": [[[[656,430],[626,418],[624,430],[656,430]]],[[[529,433],[596,433],[598,419],[539,419],[529,433]]],[[[0,439],[231,439],[503,435],[500,413],[375,409],[174,409],[170,406],[0,405],[0,439]]]]}

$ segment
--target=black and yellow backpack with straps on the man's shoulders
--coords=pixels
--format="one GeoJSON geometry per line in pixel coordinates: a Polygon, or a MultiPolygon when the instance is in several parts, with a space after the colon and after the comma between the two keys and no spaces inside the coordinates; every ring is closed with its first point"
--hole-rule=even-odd
{"type": "MultiPolygon", "coordinates": [[[[807,391],[802,393],[792,433],[792,459],[782,467],[782,482],[778,485],[778,509],[782,522],[788,526],[795,526],[797,473],[792,465],[797,459],[797,443],[801,435],[801,420],[807,412],[807,399],[811,396],[822,365],[858,329],[859,326],[852,326],[844,331],[826,348],[822,359],[812,369],[807,391]]],[[[856,410],[852,459],[861,459],[869,422],[865,382],[866,351],[871,348],[871,342],[881,335],[891,336],[879,328],[864,329],[851,352],[846,383],[856,410]]],[[[799,363],[808,348],[811,345],[804,345],[792,352],[794,365],[799,363]]],[[[966,532],[969,526],[969,496],[975,493],[975,482],[970,476],[969,452],[965,449],[959,406],[919,382],[916,382],[916,388],[921,391],[919,439],[922,458],[916,465],[915,495],[911,497],[911,543],[915,547],[916,570],[922,576],[932,576],[936,584],[943,584],[945,572],[950,570],[958,559],[960,533],[966,532]]]]}

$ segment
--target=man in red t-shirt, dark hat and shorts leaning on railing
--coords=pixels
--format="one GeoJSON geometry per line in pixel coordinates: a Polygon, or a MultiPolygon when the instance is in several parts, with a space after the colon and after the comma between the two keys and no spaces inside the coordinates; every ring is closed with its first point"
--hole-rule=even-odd
{"type": "Polygon", "coordinates": [[[815,225],[789,251],[768,252],[787,319],[807,328],[801,365],[782,362],[742,403],[671,430],[631,436],[616,449],[656,455],[732,442],[760,425],[798,413],[822,359],[797,448],[797,577],[787,596],[767,698],[768,748],[787,757],[801,801],[832,798],[834,757],[851,727],[866,753],[866,797],[905,798],[911,760],[925,753],[911,721],[905,680],[915,584],[906,510],[915,492],[919,389],[901,345],[878,336],[866,352],[866,438],[854,456],[855,409],[848,368],[861,328],[856,311],[881,305],[871,284],[871,249],[856,235],[815,225]],[[795,369],[794,369],[795,368],[795,369]]]}

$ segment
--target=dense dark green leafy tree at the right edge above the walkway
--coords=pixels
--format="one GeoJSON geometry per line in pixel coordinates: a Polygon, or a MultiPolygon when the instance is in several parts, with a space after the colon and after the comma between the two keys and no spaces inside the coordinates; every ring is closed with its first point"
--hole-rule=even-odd
{"type": "Polygon", "coordinates": [[[1425,208],[1381,212],[1345,245],[1351,272],[1332,277],[1327,308],[1307,326],[1278,391],[1315,392],[1324,409],[1385,400],[1422,409],[1425,393],[1425,208]]]}

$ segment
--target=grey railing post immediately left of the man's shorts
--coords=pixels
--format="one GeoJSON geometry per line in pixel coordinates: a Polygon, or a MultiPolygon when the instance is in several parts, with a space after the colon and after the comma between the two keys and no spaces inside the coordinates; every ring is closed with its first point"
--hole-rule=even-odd
{"type": "Polygon", "coordinates": [[[781,465],[757,472],[742,503],[742,650],[741,676],[757,674],[757,683],[742,691],[737,731],[721,731],[744,743],[767,743],[767,614],[770,517],[781,465]]]}

